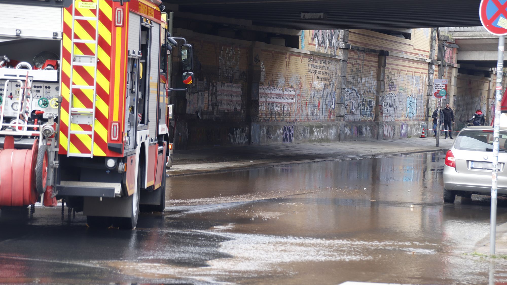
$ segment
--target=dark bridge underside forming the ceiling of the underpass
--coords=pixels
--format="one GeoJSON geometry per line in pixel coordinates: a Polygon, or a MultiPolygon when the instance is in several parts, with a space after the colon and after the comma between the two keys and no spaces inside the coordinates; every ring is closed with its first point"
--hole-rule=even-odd
{"type": "Polygon", "coordinates": [[[481,25],[480,0],[172,0],[164,4],[171,11],[297,30],[481,25]],[[325,18],[304,19],[301,13],[323,13],[325,18]]]}

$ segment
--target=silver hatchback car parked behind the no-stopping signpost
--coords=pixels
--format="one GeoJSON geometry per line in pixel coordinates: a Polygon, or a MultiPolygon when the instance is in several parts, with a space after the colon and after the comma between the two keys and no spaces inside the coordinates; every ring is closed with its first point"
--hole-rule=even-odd
{"type": "MultiPolygon", "coordinates": [[[[500,128],[498,153],[498,195],[507,195],[507,128],[500,128]]],[[[462,129],[444,165],[444,202],[454,203],[456,195],[491,194],[493,169],[493,127],[473,126],[462,129]]]]}

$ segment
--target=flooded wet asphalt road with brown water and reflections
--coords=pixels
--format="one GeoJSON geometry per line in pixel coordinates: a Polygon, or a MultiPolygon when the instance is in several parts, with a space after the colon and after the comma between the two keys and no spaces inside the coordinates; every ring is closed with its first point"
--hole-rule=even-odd
{"type": "Polygon", "coordinates": [[[489,233],[489,197],[444,204],[444,157],[170,177],[166,212],[132,231],[91,229],[66,209],[62,222],[61,207],[0,210],[0,283],[507,282],[507,261],[470,256],[489,233]]]}

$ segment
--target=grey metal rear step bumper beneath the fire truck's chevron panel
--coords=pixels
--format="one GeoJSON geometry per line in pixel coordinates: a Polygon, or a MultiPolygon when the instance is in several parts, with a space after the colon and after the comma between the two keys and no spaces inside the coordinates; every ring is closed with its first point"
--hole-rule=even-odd
{"type": "Polygon", "coordinates": [[[120,183],[61,181],[56,186],[58,196],[114,198],[121,194],[120,183]]]}

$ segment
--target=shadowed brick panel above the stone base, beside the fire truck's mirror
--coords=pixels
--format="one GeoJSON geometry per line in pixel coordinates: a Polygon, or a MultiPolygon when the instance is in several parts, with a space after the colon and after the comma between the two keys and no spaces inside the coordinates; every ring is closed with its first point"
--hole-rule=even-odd
{"type": "Polygon", "coordinates": [[[206,35],[187,41],[194,46],[195,83],[186,92],[185,113],[199,112],[203,120],[245,121],[251,43],[206,35]]]}

